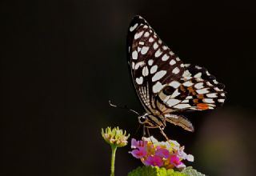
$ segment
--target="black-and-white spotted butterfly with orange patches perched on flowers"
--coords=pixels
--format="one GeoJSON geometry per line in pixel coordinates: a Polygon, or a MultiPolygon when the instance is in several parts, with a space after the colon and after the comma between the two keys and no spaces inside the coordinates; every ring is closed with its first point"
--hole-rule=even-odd
{"type": "Polygon", "coordinates": [[[138,121],[147,129],[159,128],[164,134],[170,122],[194,131],[178,113],[214,109],[226,99],[222,83],[204,67],[183,63],[141,16],[130,22],[127,54],[134,88],[146,110],[138,121]]]}

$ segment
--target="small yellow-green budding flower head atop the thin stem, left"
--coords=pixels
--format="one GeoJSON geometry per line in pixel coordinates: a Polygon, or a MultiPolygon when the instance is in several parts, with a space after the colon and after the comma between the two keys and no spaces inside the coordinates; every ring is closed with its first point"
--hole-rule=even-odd
{"type": "Polygon", "coordinates": [[[130,134],[126,135],[126,130],[123,132],[118,127],[114,127],[114,129],[107,127],[105,131],[102,129],[102,137],[111,146],[122,147],[127,145],[130,134]]]}

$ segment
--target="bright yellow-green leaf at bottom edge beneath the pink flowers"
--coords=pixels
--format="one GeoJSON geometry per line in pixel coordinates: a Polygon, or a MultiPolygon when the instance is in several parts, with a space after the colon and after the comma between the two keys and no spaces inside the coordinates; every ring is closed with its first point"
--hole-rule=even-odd
{"type": "Polygon", "coordinates": [[[172,169],[166,170],[166,168],[158,166],[143,166],[138,167],[135,170],[130,171],[128,176],[188,176],[185,173],[174,171],[172,169]]]}

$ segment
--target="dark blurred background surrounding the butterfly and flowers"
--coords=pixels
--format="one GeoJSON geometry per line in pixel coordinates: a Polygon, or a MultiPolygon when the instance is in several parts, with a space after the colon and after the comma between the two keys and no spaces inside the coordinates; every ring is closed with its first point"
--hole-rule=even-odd
{"type": "MultiPolygon", "coordinates": [[[[1,170],[7,175],[109,175],[101,128],[142,136],[143,112],[126,62],[126,32],[140,14],[183,62],[204,66],[226,85],[222,108],[186,113],[195,132],[166,134],[208,175],[254,175],[255,17],[246,1],[2,2],[1,170]]],[[[150,130],[163,139],[158,130],[150,130]]],[[[116,175],[142,163],[117,151],[116,175]]]]}

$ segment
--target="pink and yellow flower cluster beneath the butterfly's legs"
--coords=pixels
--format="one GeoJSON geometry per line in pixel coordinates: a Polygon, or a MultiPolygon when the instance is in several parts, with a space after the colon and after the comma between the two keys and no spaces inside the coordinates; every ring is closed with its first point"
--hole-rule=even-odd
{"type": "Polygon", "coordinates": [[[194,161],[194,156],[184,152],[184,146],[180,146],[178,142],[169,140],[166,142],[158,142],[153,136],[150,138],[142,138],[142,141],[131,140],[130,154],[134,158],[141,159],[146,166],[165,167],[172,169],[174,167],[186,167],[182,160],[189,162],[194,161]]]}

